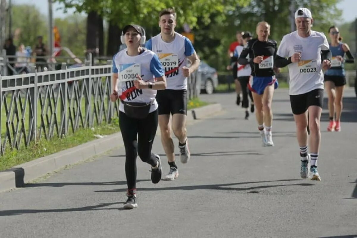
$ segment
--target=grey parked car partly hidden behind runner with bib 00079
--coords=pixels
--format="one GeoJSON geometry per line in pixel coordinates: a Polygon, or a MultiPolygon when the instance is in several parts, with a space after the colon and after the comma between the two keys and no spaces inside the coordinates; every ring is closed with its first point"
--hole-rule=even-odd
{"type": "Polygon", "coordinates": [[[211,94],[218,86],[217,70],[201,61],[198,72],[201,73],[201,91],[211,94]]]}

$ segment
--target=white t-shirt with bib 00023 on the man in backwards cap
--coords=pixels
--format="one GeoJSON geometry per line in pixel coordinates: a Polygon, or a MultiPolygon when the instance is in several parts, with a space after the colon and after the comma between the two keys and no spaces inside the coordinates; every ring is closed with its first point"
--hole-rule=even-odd
{"type": "Polygon", "coordinates": [[[297,31],[287,34],[281,40],[277,55],[283,58],[301,53],[300,62],[288,65],[290,86],[289,94],[298,95],[323,89],[321,51],[328,50],[326,36],[322,32],[311,31],[308,37],[301,37],[297,31]]]}

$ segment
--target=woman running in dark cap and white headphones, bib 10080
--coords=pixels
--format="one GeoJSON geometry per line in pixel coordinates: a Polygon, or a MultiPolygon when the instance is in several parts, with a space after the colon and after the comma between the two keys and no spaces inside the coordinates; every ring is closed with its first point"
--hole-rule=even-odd
{"type": "Polygon", "coordinates": [[[119,126],[125,146],[125,175],[128,186],[124,208],[137,207],[136,157],[151,165],[151,182],[162,176],[160,156],[151,152],[157,130],[156,90],[166,88],[165,71],[154,52],[140,46],[145,30],[127,25],[121,35],[126,50],[113,57],[112,102],[120,99],[119,126]]]}

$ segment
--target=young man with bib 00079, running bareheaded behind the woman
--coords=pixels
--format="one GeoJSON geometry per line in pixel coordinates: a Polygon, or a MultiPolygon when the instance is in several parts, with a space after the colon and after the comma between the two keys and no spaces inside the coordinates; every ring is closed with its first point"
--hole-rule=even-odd
{"type": "Polygon", "coordinates": [[[147,41],[146,48],[159,56],[165,69],[167,87],[157,92],[156,100],[159,103],[161,142],[170,165],[170,172],[164,179],[174,180],[178,176],[178,169],[175,163],[174,141],[171,137],[170,114],[172,130],[179,141],[181,162],[187,163],[190,160],[186,135],[187,77],[197,70],[200,60],[191,41],[175,32],[174,9],[164,9],[160,12],[159,26],[160,34],[147,41]],[[191,61],[190,67],[186,67],[186,58],[191,61]]]}

